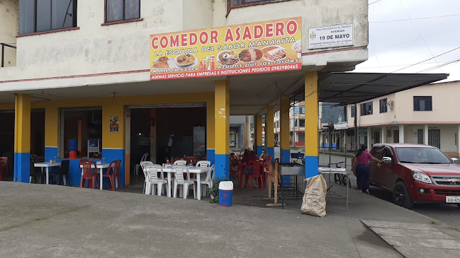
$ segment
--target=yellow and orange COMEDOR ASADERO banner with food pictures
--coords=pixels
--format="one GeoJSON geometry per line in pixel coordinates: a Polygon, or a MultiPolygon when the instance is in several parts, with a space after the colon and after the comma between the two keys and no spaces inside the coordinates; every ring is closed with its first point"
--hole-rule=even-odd
{"type": "Polygon", "coordinates": [[[301,17],[150,35],[150,80],[302,69],[301,17]]]}

